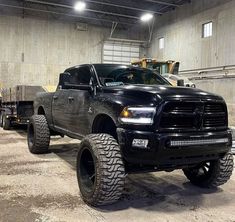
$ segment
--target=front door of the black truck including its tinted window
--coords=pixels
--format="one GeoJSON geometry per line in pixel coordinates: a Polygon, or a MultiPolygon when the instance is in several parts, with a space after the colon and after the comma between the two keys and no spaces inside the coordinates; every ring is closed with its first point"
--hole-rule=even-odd
{"type": "MultiPolygon", "coordinates": [[[[72,85],[90,85],[92,73],[89,66],[80,66],[69,73],[72,85]]],[[[71,88],[68,90],[66,107],[66,128],[68,131],[79,135],[90,133],[89,109],[93,96],[93,92],[88,89],[71,88]]]]}

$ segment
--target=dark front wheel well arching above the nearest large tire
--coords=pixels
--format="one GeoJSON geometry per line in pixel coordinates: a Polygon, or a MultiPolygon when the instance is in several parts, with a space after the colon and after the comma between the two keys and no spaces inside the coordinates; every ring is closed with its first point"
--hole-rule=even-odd
{"type": "Polygon", "coordinates": [[[117,139],[116,129],[113,119],[106,114],[101,114],[93,122],[92,133],[106,133],[117,139]]]}

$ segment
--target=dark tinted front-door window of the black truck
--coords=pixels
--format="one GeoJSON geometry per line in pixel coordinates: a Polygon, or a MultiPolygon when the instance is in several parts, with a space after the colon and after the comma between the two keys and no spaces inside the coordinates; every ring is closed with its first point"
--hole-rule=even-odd
{"type": "Polygon", "coordinates": [[[70,71],[70,84],[89,85],[91,80],[91,72],[89,67],[84,66],[70,71]]]}

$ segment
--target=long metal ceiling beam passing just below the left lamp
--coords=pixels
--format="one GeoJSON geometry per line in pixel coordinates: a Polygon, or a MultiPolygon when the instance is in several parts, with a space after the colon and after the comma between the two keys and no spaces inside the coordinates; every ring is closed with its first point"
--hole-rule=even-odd
{"type": "Polygon", "coordinates": [[[88,17],[88,16],[67,14],[67,13],[55,12],[55,11],[50,11],[50,10],[34,9],[34,8],[29,8],[29,7],[24,7],[24,6],[0,4],[0,7],[8,7],[8,8],[28,10],[28,11],[34,11],[34,12],[49,13],[49,14],[54,14],[54,15],[63,15],[63,16],[67,16],[67,17],[82,18],[82,19],[87,19],[87,20],[98,20],[98,21],[103,21],[103,22],[108,22],[108,23],[118,22],[119,24],[131,25],[131,26],[136,24],[136,23],[128,23],[128,22],[120,22],[120,21],[111,21],[111,20],[102,19],[102,18],[93,18],[93,17],[88,17]]]}

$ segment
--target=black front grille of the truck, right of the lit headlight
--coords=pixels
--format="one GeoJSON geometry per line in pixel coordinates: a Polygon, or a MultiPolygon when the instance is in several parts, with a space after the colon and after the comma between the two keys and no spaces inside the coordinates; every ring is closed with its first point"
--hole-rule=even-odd
{"type": "Polygon", "coordinates": [[[219,102],[167,102],[159,126],[163,130],[227,128],[227,108],[219,102]]]}

